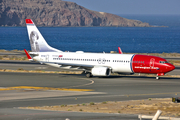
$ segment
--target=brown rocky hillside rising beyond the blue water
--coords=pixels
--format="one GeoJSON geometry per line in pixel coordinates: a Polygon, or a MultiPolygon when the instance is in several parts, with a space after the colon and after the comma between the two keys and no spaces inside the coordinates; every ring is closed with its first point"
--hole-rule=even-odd
{"type": "Polygon", "coordinates": [[[25,19],[37,26],[151,27],[148,23],[88,10],[62,0],[0,0],[0,26],[25,26],[25,19]]]}

